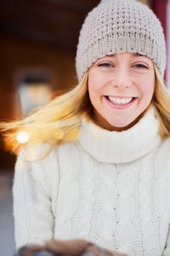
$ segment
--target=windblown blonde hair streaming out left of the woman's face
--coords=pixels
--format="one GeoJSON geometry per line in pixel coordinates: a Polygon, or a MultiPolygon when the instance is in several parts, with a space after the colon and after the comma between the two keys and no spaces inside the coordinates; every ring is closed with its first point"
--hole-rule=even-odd
{"type": "Polygon", "coordinates": [[[54,98],[26,119],[3,122],[0,128],[11,142],[17,131],[27,131],[29,143],[63,143],[77,139],[81,116],[88,108],[88,73],[73,90],[54,98]]]}

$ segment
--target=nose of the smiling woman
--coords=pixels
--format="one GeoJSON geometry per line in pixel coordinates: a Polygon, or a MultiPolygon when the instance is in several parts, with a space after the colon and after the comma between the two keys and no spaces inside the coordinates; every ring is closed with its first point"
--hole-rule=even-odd
{"type": "Polygon", "coordinates": [[[119,89],[126,89],[132,86],[133,81],[127,68],[117,68],[113,75],[112,84],[119,89]]]}

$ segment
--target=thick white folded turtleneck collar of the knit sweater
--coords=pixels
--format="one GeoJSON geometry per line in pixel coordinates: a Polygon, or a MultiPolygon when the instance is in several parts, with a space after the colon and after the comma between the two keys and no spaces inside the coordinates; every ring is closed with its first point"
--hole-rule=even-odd
{"type": "Polygon", "coordinates": [[[127,163],[148,154],[161,141],[155,108],[127,131],[107,131],[82,119],[79,143],[97,160],[105,163],[127,163]]]}

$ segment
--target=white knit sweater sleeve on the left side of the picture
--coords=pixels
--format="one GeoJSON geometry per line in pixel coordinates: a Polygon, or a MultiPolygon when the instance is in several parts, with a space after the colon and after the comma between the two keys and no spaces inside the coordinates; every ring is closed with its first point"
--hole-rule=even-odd
{"type": "MultiPolygon", "coordinates": [[[[38,148],[32,148],[38,152],[38,148]]],[[[19,155],[14,173],[14,229],[16,247],[42,245],[54,237],[54,209],[57,197],[58,168],[56,157],[28,162],[24,151],[19,155]],[[56,200],[56,198],[55,198],[56,200]]]]}

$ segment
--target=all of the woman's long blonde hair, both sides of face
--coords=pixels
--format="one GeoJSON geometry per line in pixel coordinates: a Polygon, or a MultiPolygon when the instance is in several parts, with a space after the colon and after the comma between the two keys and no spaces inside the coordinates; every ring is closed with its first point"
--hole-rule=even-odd
{"type": "MultiPolygon", "coordinates": [[[[150,104],[156,107],[160,123],[160,135],[170,135],[170,96],[161,74],[155,65],[156,88],[150,104]]],[[[14,140],[16,131],[25,130],[30,135],[29,143],[65,143],[77,140],[82,115],[93,119],[93,107],[88,96],[88,72],[75,89],[55,98],[47,106],[26,119],[1,123],[5,135],[14,140]]]]}

